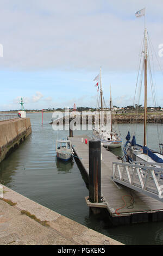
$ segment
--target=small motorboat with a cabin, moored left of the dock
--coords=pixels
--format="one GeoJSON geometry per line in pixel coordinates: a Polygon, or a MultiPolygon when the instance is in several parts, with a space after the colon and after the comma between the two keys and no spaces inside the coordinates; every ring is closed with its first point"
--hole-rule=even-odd
{"type": "Polygon", "coordinates": [[[57,158],[62,161],[68,161],[73,155],[73,149],[71,141],[62,139],[61,141],[56,141],[56,155],[57,158]]]}

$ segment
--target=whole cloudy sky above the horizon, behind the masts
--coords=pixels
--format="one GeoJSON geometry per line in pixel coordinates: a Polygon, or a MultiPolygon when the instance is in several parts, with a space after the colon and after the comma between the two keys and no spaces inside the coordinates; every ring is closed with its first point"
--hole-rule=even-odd
{"type": "Polygon", "coordinates": [[[162,0],[1,0],[0,111],[20,109],[21,97],[25,109],[96,107],[100,67],[106,105],[110,86],[113,105],[133,105],[144,33],[144,17],[135,13],[142,8],[163,107],[162,0]]]}

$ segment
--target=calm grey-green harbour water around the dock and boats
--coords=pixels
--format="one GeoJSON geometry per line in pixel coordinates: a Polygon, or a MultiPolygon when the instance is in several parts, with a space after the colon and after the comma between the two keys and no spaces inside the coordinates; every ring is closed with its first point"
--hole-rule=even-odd
{"type": "MultiPolygon", "coordinates": [[[[0,180],[4,185],[126,245],[163,244],[163,222],[111,227],[101,216],[90,216],[85,202],[89,191],[76,161],[73,159],[65,164],[57,161],[55,157],[55,140],[65,138],[68,132],[53,131],[52,125],[48,124],[52,113],[44,114],[43,127],[41,114],[27,114],[27,117],[30,117],[32,123],[32,134],[0,164],[0,180]]],[[[125,142],[128,125],[123,124],[119,128],[125,142]]],[[[137,134],[141,137],[142,130],[143,125],[137,125],[137,134]]],[[[148,126],[148,146],[158,149],[155,130],[156,125],[148,126]]],[[[91,137],[91,131],[75,131],[74,135],[83,133],[91,137]]],[[[123,155],[121,148],[112,152],[115,155],[123,155]]]]}

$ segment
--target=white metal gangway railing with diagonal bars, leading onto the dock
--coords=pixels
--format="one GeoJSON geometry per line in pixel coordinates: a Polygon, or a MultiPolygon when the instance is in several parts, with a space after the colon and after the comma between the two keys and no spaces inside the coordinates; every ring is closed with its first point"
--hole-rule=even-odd
{"type": "Polygon", "coordinates": [[[163,164],[113,162],[112,165],[115,182],[163,202],[163,164]]]}

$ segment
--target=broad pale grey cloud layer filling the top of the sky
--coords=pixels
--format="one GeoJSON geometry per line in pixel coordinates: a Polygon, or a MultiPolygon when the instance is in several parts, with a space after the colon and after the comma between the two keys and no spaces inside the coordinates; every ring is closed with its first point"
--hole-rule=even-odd
{"type": "Polygon", "coordinates": [[[95,70],[102,65],[108,70],[135,70],[144,26],[135,11],[144,6],[158,51],[162,43],[159,0],[5,1],[0,10],[4,47],[0,66],[95,70]]]}

